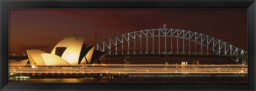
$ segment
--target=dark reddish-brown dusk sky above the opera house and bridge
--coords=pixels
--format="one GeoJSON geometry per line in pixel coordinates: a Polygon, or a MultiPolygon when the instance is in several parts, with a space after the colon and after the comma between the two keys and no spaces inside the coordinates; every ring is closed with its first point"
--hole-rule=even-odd
{"type": "Polygon", "coordinates": [[[162,28],[210,35],[247,51],[247,8],[9,9],[9,54],[27,49],[51,52],[69,35],[94,44],[127,32],[162,28]]]}

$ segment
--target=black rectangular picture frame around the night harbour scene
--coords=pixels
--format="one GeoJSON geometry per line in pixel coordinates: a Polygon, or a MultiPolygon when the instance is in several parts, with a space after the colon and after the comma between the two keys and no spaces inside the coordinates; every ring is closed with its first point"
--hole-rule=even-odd
{"type": "Polygon", "coordinates": [[[255,0],[1,0],[1,90],[255,90],[255,0]],[[248,83],[8,83],[8,8],[247,8],[248,83]]]}

